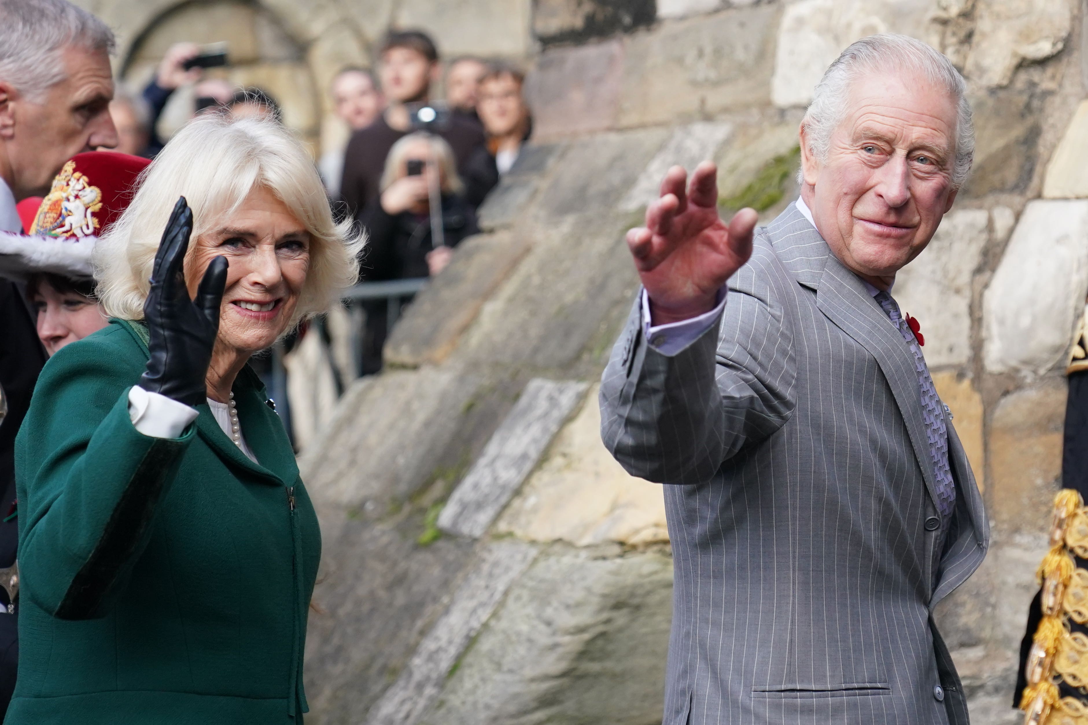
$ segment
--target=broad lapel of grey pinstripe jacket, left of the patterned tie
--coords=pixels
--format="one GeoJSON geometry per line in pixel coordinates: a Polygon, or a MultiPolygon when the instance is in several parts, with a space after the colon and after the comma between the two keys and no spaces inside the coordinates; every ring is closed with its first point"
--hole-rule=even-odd
{"type": "Polygon", "coordinates": [[[790,204],[767,230],[787,268],[803,286],[816,290],[819,311],[876,359],[906,423],[914,457],[936,504],[937,480],[910,347],[861,278],[831,253],[819,232],[794,204],[790,204]]]}

